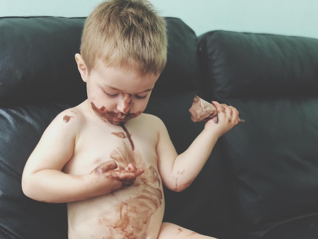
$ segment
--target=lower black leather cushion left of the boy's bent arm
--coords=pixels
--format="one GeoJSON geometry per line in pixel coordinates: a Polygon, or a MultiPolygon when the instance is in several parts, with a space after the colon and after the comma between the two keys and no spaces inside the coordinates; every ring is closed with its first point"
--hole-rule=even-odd
{"type": "Polygon", "coordinates": [[[0,108],[0,237],[67,238],[65,204],[27,198],[21,189],[25,162],[42,132],[70,104],[0,108]]]}

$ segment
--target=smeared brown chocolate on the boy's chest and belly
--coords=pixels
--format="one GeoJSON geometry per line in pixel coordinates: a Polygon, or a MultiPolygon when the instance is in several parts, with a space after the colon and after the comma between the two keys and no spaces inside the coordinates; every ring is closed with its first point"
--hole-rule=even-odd
{"type": "MultiPolygon", "coordinates": [[[[120,167],[125,167],[129,163],[137,167],[144,166],[145,163],[140,157],[140,154],[135,151],[134,142],[131,134],[124,125],[120,125],[129,139],[122,141],[122,146],[117,147],[112,151],[110,158],[117,161],[120,167]]],[[[124,136],[122,132],[112,132],[120,138],[124,136]]],[[[124,183],[124,182],[123,182],[124,183]]],[[[131,182],[128,182],[131,183],[131,182]]],[[[115,235],[122,235],[123,238],[139,239],[145,238],[145,231],[147,230],[151,216],[162,205],[163,192],[160,188],[160,175],[155,167],[149,166],[145,168],[143,174],[136,178],[134,185],[131,187],[141,187],[142,193],[131,197],[124,201],[118,202],[118,218],[114,221],[109,221],[107,218],[99,219],[100,224],[112,228],[111,233],[115,235]]]]}

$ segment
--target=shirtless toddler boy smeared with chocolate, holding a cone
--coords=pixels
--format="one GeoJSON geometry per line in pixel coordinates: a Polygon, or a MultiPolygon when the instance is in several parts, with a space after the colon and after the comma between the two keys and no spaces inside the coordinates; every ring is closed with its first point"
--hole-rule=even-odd
{"type": "Polygon", "coordinates": [[[110,0],[87,18],[75,59],[87,99],[56,116],[22,175],[25,195],[68,205],[70,239],[211,238],[163,223],[163,184],[188,187],[217,139],[238,124],[213,119],[177,155],[163,122],[143,111],[166,64],[165,20],[148,1],[110,0]]]}

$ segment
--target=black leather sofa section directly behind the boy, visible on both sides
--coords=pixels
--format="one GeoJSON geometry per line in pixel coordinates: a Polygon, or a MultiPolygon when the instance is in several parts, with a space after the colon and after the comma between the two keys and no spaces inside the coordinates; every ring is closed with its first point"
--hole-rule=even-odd
{"type": "MultiPolygon", "coordinates": [[[[86,98],[74,60],[84,18],[0,18],[0,237],[67,238],[65,204],[31,200],[21,190],[24,164],[52,119],[86,98]]],[[[201,95],[197,37],[166,18],[168,62],[146,112],[165,122],[178,152],[203,129],[189,107],[201,95]]],[[[215,149],[196,181],[181,193],[165,189],[165,220],[214,233],[227,225],[224,165],[215,149]],[[203,218],[209,218],[204,221],[203,218]]]]}

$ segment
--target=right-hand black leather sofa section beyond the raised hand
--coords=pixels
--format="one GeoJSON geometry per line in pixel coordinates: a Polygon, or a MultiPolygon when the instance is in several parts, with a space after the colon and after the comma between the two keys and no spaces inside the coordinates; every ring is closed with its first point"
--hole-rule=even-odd
{"type": "Polygon", "coordinates": [[[317,215],[318,39],[213,31],[199,41],[208,100],[245,119],[220,139],[237,228],[249,238],[317,215]]]}

